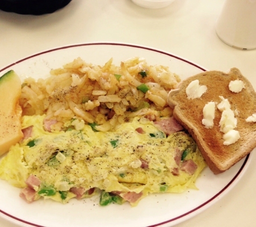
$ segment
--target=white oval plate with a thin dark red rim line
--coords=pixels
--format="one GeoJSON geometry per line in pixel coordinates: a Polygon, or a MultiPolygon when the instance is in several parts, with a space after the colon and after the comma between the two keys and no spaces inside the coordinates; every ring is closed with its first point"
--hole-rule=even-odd
{"type": "MultiPolygon", "coordinates": [[[[37,79],[49,75],[50,69],[62,67],[79,56],[97,65],[105,64],[110,58],[117,65],[133,56],[140,56],[151,65],[169,66],[171,72],[182,79],[206,70],[196,63],[160,49],[94,42],[34,54],[0,69],[0,75],[13,69],[22,79],[28,76],[37,79]]],[[[247,155],[229,171],[219,175],[212,174],[206,168],[196,183],[199,190],[188,190],[182,194],[150,195],[135,208],[131,208],[129,204],[100,207],[98,197],[81,201],[73,199],[65,205],[50,200],[27,204],[19,197],[20,189],[0,180],[0,215],[19,226],[172,226],[198,214],[229,192],[245,173],[250,160],[250,155],[247,155]]]]}

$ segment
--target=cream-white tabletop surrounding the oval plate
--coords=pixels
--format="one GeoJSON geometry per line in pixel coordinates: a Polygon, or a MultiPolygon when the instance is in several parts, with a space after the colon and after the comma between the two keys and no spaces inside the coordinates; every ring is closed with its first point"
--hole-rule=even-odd
{"type": "MultiPolygon", "coordinates": [[[[227,72],[237,67],[256,89],[256,49],[232,48],[215,33],[223,3],[224,0],[177,0],[163,9],[145,9],[130,0],[73,0],[49,15],[0,11],[0,68],[58,46],[95,41],[129,42],[163,49],[210,70],[227,72]]],[[[255,226],[254,166],[255,155],[229,194],[177,226],[255,226]]],[[[0,218],[0,226],[17,225],[0,218]]]]}

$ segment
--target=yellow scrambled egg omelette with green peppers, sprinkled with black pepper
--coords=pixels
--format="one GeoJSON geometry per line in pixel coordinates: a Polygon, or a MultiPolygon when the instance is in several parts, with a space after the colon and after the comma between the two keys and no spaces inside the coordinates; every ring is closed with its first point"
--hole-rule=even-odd
{"type": "Polygon", "coordinates": [[[127,200],[122,196],[126,193],[141,195],[136,200],[128,199],[136,205],[150,193],[180,193],[196,188],[195,180],[205,167],[189,134],[166,136],[144,117],[136,117],[113,132],[96,131],[93,125],[78,119],[67,122],[65,131],[47,132],[44,118],[23,117],[23,129],[33,126],[31,137],[12,146],[0,164],[0,178],[13,186],[25,188],[26,179],[31,174],[36,176],[41,182],[34,187],[36,199],[66,203],[76,197],[72,189],[82,188],[82,197],[101,193],[101,205],[119,203],[116,198],[123,197],[122,203],[127,200]],[[139,128],[143,133],[137,132],[139,128]],[[181,163],[189,159],[195,162],[195,173],[179,168],[175,161],[177,149],[183,152],[181,163]]]}

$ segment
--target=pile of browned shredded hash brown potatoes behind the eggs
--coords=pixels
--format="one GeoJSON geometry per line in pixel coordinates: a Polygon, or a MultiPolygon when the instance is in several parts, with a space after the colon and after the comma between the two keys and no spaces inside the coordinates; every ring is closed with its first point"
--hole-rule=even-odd
{"type": "Polygon", "coordinates": [[[135,116],[171,116],[167,94],[179,81],[168,67],[149,66],[143,58],[130,58],[120,66],[113,59],[98,66],[77,58],[51,70],[46,79],[27,78],[19,102],[23,115],[46,113],[58,120],[56,130],[78,118],[108,131],[135,116]],[[138,89],[141,84],[149,90],[138,89]]]}

